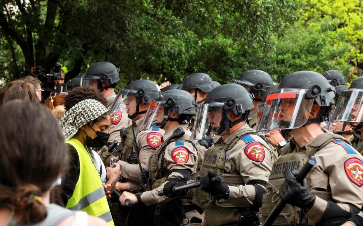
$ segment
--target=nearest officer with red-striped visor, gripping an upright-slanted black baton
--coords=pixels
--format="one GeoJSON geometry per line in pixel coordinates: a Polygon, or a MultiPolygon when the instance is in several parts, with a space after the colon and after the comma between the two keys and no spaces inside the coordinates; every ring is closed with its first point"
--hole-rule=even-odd
{"type": "Polygon", "coordinates": [[[291,73],[269,92],[257,131],[288,130],[293,138],[273,164],[260,208],[263,221],[278,197],[289,205],[275,225],[337,225],[359,212],[363,157],[345,138],[320,128],[334,97],[335,88],[312,71],[291,73]],[[296,170],[308,159],[315,165],[301,184],[296,170]]]}

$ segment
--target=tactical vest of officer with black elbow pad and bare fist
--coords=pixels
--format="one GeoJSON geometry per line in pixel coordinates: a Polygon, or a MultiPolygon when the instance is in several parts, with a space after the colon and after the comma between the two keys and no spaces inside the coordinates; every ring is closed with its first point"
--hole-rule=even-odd
{"type": "MultiPolygon", "coordinates": [[[[174,141],[184,141],[184,142],[191,143],[191,141],[189,140],[189,136],[187,136],[186,134],[184,134],[180,138],[174,138],[174,139],[169,138],[167,141],[164,141],[163,144],[160,145],[159,149],[155,149],[150,154],[149,182],[152,183],[152,189],[159,187],[160,185],[162,185],[164,182],[166,182],[168,180],[168,175],[169,175],[168,169],[163,166],[164,165],[164,154],[165,154],[165,149],[168,146],[168,144],[170,144],[171,142],[174,142],[174,141]],[[160,165],[159,165],[159,159],[161,159],[160,165]]],[[[194,146],[194,144],[193,144],[193,146],[194,146]]]]}

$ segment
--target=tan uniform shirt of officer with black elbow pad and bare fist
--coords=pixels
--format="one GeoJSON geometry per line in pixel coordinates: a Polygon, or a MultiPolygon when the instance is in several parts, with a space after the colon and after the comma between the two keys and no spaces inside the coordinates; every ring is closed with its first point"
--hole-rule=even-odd
{"type": "MultiPolygon", "coordinates": [[[[177,126],[175,129],[177,129],[178,127],[179,126],[177,126]]],[[[181,125],[180,127],[184,129],[184,132],[187,136],[190,137],[192,135],[192,132],[187,129],[187,125],[181,125]]],[[[167,141],[175,129],[165,133],[163,140],[167,141]]],[[[162,158],[159,159],[159,166],[161,163],[161,159],[162,158]]],[[[197,170],[197,163],[198,163],[197,151],[195,150],[193,144],[183,141],[183,144],[181,145],[179,141],[178,142],[174,141],[168,144],[168,146],[165,149],[164,163],[163,166],[161,166],[161,168],[166,167],[168,170],[188,169],[191,171],[191,174],[194,174],[196,173],[197,170]],[[185,151],[179,152],[180,154],[184,155],[183,157],[181,157],[180,155],[178,155],[178,149],[184,150],[183,148],[187,150],[187,154],[185,153],[185,151]],[[186,158],[185,161],[183,161],[183,158],[186,158]]],[[[170,178],[183,179],[184,176],[179,172],[172,172],[171,174],[168,175],[168,179],[170,178]]],[[[141,195],[142,202],[144,202],[146,205],[152,205],[154,203],[159,203],[167,199],[168,197],[166,197],[165,195],[163,196],[158,195],[158,191],[162,191],[166,183],[167,182],[163,183],[162,185],[151,191],[143,192],[141,195]]]]}

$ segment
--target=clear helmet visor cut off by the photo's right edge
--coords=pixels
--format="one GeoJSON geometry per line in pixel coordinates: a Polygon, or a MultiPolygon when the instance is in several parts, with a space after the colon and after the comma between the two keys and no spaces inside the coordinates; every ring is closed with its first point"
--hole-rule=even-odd
{"type": "Polygon", "coordinates": [[[363,122],[363,90],[346,89],[340,93],[329,122],[339,121],[352,122],[353,125],[363,122]]]}

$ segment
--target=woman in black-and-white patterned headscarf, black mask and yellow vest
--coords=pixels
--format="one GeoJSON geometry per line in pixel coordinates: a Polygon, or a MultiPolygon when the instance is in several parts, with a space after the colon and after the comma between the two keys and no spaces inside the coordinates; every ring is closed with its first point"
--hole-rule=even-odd
{"type": "Polygon", "coordinates": [[[107,144],[109,112],[101,102],[86,99],[67,110],[60,124],[73,156],[70,175],[63,184],[66,208],[86,211],[114,225],[104,191],[109,186],[102,185],[101,173],[87,150],[107,144]]]}

